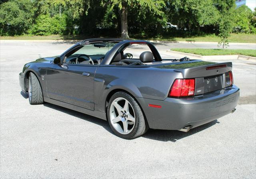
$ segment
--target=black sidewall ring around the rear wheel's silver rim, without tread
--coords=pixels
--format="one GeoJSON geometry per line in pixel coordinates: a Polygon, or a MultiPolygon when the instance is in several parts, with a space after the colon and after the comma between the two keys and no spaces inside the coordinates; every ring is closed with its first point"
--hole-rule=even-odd
{"type": "Polygon", "coordinates": [[[112,131],[114,131],[114,133],[115,133],[118,137],[122,137],[122,138],[124,138],[124,139],[131,139],[131,138],[135,135],[135,133],[136,133],[136,131],[137,131],[137,129],[138,129],[138,121],[139,121],[138,117],[139,117],[139,114],[138,114],[138,109],[135,107],[133,100],[134,100],[134,99],[133,99],[130,95],[128,95],[127,93],[124,93],[124,92],[117,92],[117,93],[115,93],[115,94],[110,98],[110,101],[109,101],[109,103],[108,103],[108,110],[107,110],[108,123],[109,123],[109,125],[110,125],[112,131]],[[128,134],[121,134],[121,133],[119,133],[118,131],[116,131],[116,129],[114,128],[114,126],[112,125],[112,123],[111,123],[111,121],[110,121],[110,105],[111,105],[112,102],[113,102],[116,98],[118,98],[118,97],[123,97],[123,98],[127,99],[127,100],[129,101],[129,103],[132,105],[132,108],[133,108],[133,110],[134,110],[134,115],[135,115],[134,127],[133,127],[132,131],[131,131],[130,133],[128,133],[128,134]]]}

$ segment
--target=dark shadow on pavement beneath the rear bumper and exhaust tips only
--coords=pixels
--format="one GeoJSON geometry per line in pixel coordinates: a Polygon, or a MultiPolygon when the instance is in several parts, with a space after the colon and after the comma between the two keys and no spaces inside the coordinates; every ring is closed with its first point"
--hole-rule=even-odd
{"type": "Polygon", "coordinates": [[[215,125],[216,123],[220,123],[220,122],[216,119],[216,120],[206,123],[204,125],[195,127],[194,129],[190,129],[188,132],[175,131],[175,130],[149,129],[147,133],[142,135],[142,137],[145,137],[148,139],[153,139],[153,140],[158,140],[158,141],[176,142],[179,139],[182,139],[184,137],[188,137],[190,135],[193,135],[195,133],[203,131],[204,129],[207,129],[208,127],[211,127],[212,125],[215,125]]]}

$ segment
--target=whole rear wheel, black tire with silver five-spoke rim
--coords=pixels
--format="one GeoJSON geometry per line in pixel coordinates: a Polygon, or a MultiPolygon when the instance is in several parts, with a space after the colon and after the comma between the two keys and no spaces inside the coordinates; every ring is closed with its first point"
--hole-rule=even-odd
{"type": "Polygon", "coordinates": [[[108,123],[118,137],[133,139],[148,130],[142,110],[132,96],[115,93],[108,103],[108,123]]]}

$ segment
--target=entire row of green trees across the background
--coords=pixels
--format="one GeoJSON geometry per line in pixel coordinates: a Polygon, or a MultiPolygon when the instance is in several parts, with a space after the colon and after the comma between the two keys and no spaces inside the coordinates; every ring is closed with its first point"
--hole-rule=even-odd
{"type": "Polygon", "coordinates": [[[232,31],[256,33],[256,12],[246,6],[235,10],[235,0],[0,1],[0,35],[129,38],[215,33],[226,44],[232,31]]]}

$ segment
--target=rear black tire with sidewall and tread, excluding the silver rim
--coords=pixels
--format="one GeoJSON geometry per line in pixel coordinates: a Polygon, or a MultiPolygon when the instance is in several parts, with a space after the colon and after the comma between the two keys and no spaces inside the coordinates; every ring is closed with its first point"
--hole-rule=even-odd
{"type": "Polygon", "coordinates": [[[108,123],[109,123],[112,131],[114,131],[114,133],[118,137],[121,137],[121,138],[124,138],[124,139],[134,139],[136,137],[139,137],[139,136],[143,135],[149,129],[148,123],[146,121],[146,118],[144,117],[144,114],[142,112],[142,109],[140,108],[140,105],[128,93],[117,92],[114,95],[112,95],[112,97],[110,98],[110,101],[108,103],[107,115],[108,115],[108,123]],[[123,97],[123,98],[127,99],[130,102],[130,105],[132,105],[132,108],[134,109],[134,114],[135,114],[134,128],[128,134],[119,133],[114,128],[112,123],[110,122],[110,105],[118,97],[123,97]]]}

